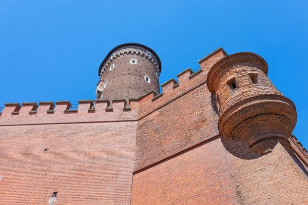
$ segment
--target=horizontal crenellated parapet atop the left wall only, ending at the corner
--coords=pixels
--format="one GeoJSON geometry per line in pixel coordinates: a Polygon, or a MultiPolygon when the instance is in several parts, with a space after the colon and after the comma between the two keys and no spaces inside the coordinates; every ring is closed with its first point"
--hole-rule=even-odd
{"type": "Polygon", "coordinates": [[[70,101],[6,103],[0,123],[8,126],[137,119],[136,104],[128,106],[125,99],[79,100],[78,103],[78,109],[70,109],[70,101]]]}

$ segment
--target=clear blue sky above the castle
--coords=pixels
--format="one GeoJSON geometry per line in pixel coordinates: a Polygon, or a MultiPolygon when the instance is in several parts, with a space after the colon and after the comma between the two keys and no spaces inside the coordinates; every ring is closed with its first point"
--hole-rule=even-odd
{"type": "Polygon", "coordinates": [[[162,61],[160,83],[223,47],[250,51],[297,108],[308,149],[307,1],[0,0],[0,107],[7,102],[94,99],[113,47],[136,42],[162,61]]]}

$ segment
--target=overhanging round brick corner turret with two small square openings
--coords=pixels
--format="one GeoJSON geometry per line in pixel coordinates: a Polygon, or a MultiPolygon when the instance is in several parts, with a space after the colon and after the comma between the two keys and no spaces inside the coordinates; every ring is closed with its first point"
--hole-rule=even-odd
{"type": "Polygon", "coordinates": [[[275,88],[267,71],[263,58],[243,52],[222,58],[207,76],[218,102],[221,134],[243,140],[258,154],[271,152],[278,141],[288,145],[297,119],[295,105],[275,88]]]}

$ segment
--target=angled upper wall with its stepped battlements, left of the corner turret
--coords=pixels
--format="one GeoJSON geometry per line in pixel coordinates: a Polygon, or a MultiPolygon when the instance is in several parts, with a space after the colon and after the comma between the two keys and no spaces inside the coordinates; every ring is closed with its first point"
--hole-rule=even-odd
{"type": "Polygon", "coordinates": [[[162,84],[163,93],[138,103],[135,170],[219,134],[215,97],[206,89],[208,66],[225,56],[221,49],[202,59],[201,72],[187,69],[162,84]],[[203,70],[204,69],[204,70],[203,70]]]}

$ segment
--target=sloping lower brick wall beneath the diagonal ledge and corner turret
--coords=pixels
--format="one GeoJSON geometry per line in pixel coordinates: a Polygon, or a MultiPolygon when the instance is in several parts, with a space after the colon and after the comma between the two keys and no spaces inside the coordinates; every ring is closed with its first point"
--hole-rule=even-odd
{"type": "Polygon", "coordinates": [[[259,157],[218,138],[134,174],[132,204],[300,204],[307,187],[280,144],[259,157]]]}

